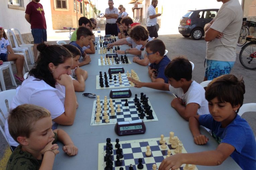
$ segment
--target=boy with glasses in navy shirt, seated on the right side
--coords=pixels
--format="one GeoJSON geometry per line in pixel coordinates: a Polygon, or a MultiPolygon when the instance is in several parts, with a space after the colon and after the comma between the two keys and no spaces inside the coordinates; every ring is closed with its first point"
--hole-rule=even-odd
{"type": "Polygon", "coordinates": [[[152,82],[168,83],[164,74],[165,67],[171,60],[165,55],[165,45],[162,40],[155,39],[146,44],[146,52],[149,62],[149,76],[152,82]]]}

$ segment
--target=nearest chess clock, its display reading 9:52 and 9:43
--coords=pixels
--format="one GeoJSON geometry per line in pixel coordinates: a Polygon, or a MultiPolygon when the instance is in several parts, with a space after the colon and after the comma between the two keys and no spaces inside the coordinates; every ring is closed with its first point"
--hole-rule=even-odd
{"type": "Polygon", "coordinates": [[[117,122],[115,124],[115,133],[119,136],[143,134],[146,132],[144,122],[139,120],[117,122]]]}

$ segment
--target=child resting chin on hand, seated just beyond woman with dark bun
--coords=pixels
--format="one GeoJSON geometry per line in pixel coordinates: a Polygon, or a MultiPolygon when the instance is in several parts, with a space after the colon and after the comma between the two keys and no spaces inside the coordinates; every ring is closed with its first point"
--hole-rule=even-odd
{"type": "Polygon", "coordinates": [[[83,92],[85,90],[85,80],[88,77],[87,71],[81,69],[79,64],[79,58],[81,56],[80,50],[70,44],[64,44],[63,47],[67,48],[73,55],[73,66],[71,67],[71,78],[73,81],[75,91],[83,92]],[[76,77],[76,79],[75,79],[76,77]]]}

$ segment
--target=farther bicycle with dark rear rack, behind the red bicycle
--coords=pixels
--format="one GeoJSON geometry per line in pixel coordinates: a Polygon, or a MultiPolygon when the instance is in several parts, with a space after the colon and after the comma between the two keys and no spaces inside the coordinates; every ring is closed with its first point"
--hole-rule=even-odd
{"type": "Polygon", "coordinates": [[[243,18],[242,28],[237,41],[238,46],[243,46],[246,44],[246,37],[250,35],[250,27],[256,27],[256,22],[247,21],[247,18],[243,18]]]}

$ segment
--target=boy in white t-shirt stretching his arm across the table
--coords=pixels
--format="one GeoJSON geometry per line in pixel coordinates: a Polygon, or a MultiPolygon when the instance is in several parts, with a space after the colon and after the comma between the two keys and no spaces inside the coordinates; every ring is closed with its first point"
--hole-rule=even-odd
{"type": "Polygon", "coordinates": [[[192,65],[187,59],[174,58],[166,66],[164,73],[169,84],[140,82],[130,77],[128,79],[134,83],[134,87],[171,91],[177,96],[172,100],[171,106],[187,121],[196,114],[209,114],[208,102],[204,97],[205,90],[200,84],[191,80],[192,65]]]}

